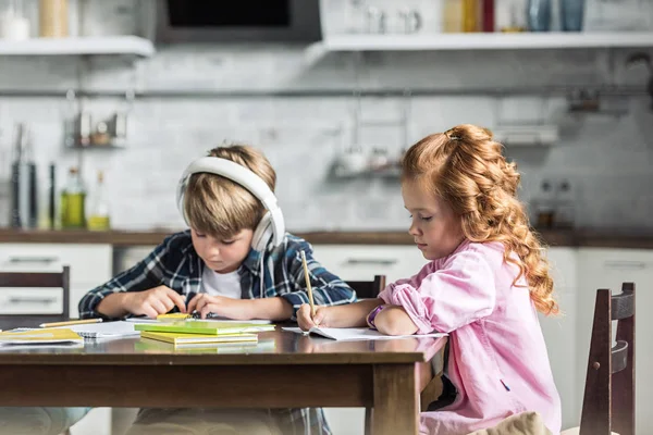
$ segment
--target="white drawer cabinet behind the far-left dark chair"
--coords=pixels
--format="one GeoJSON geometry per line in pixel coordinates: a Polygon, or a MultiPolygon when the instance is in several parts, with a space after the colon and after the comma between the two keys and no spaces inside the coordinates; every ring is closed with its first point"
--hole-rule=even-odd
{"type": "MultiPolygon", "coordinates": [[[[71,318],[79,315],[77,303],[91,288],[112,276],[111,245],[0,244],[2,272],[60,272],[71,268],[71,318]]],[[[0,291],[0,313],[41,314],[59,310],[62,291],[35,289],[26,295],[21,288],[0,291]]]]}

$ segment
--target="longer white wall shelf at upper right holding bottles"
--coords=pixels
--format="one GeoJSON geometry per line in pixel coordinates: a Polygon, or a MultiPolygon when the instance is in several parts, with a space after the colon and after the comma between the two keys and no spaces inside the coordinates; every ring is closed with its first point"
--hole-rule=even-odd
{"type": "Polygon", "coordinates": [[[318,42],[326,51],[513,50],[653,47],[653,33],[510,33],[337,35],[318,42]]]}

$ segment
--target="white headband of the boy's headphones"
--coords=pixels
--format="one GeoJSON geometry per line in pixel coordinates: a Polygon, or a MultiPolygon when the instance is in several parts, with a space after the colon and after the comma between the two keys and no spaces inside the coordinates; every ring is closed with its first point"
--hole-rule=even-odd
{"type": "Polygon", "coordinates": [[[246,188],[251,195],[259,199],[270,213],[274,246],[281,245],[285,234],[285,227],[283,214],[276,203],[276,196],[272,189],[270,189],[268,184],[252,171],[226,159],[217,157],[202,157],[193,161],[182,174],[182,178],[180,179],[177,186],[176,199],[177,208],[180,209],[180,212],[186,222],[187,219],[184,208],[184,194],[186,191],[186,185],[188,184],[188,179],[193,174],[202,172],[221,175],[225,178],[229,178],[246,188]]]}

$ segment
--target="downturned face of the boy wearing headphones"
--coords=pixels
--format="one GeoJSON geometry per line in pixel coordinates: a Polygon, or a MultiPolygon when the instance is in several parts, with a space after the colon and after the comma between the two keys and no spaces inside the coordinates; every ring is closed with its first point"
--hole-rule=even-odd
{"type": "Polygon", "coordinates": [[[211,268],[218,273],[229,273],[237,270],[247,258],[254,231],[243,229],[227,239],[198,233],[194,228],[190,228],[190,235],[193,247],[207,268],[211,268]]]}

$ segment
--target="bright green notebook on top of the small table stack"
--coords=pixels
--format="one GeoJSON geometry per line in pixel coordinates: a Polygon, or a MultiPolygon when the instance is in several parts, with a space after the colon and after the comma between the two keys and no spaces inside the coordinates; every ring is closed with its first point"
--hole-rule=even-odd
{"type": "Polygon", "coordinates": [[[256,334],[266,331],[274,331],[274,325],[259,323],[221,323],[221,322],[163,322],[163,323],[136,323],[136,331],[153,331],[160,333],[186,333],[186,334],[256,334]]]}

